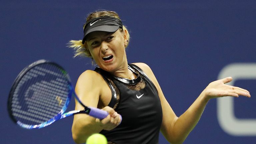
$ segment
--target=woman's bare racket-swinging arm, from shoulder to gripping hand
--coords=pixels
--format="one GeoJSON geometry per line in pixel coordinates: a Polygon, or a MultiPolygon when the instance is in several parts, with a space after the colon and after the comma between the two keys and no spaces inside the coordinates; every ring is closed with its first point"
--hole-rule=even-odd
{"type": "MultiPolygon", "coordinates": [[[[75,92],[81,102],[86,106],[97,107],[102,87],[105,84],[104,79],[95,71],[87,70],[83,72],[76,84],[75,92]]],[[[84,107],[76,100],[75,110],[83,110],[84,107]]],[[[101,130],[111,130],[118,126],[120,118],[114,109],[104,107],[109,115],[99,120],[87,114],[74,115],[72,125],[72,136],[76,143],[85,143],[86,139],[93,133],[99,133],[101,130]]]]}

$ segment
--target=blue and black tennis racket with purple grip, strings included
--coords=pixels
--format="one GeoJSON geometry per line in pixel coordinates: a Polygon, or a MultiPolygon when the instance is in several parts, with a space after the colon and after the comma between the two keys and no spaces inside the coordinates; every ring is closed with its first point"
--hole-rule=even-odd
{"type": "Polygon", "coordinates": [[[57,63],[38,60],[15,79],[8,98],[11,119],[26,129],[39,129],[74,114],[104,119],[108,112],[85,106],[75,94],[68,73],[57,63]],[[64,113],[71,97],[84,107],[64,113]]]}

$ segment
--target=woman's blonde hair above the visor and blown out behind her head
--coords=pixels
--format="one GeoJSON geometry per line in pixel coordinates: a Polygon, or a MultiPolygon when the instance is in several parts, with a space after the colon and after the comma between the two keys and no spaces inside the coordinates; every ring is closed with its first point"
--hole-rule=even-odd
{"type": "MultiPolygon", "coordinates": [[[[90,21],[91,19],[94,19],[97,17],[103,17],[103,16],[111,16],[111,17],[121,20],[120,17],[118,16],[118,14],[114,11],[106,11],[106,10],[95,11],[88,15],[88,17],[86,18],[86,23],[83,26],[83,29],[84,29],[85,25],[87,24],[87,22],[90,21]]],[[[124,25],[123,25],[123,29],[121,29],[121,28],[119,28],[119,29],[122,30],[122,32],[124,30],[127,30],[127,28],[124,25]]],[[[127,30],[127,40],[128,41],[127,41],[127,44],[125,45],[125,48],[128,46],[129,41],[130,41],[130,34],[129,34],[128,30],[127,30]]],[[[92,58],[92,55],[91,55],[89,49],[86,47],[86,43],[82,44],[82,40],[71,40],[68,43],[68,47],[74,49],[74,51],[75,51],[74,57],[82,56],[82,57],[92,58]]]]}

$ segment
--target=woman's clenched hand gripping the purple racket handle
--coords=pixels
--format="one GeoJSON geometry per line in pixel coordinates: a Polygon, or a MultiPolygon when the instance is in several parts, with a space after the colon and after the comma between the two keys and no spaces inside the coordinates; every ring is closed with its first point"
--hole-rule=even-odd
{"type": "Polygon", "coordinates": [[[96,123],[99,123],[104,130],[112,130],[121,123],[120,115],[113,108],[106,106],[102,110],[107,111],[109,115],[102,120],[97,118],[96,123]]]}

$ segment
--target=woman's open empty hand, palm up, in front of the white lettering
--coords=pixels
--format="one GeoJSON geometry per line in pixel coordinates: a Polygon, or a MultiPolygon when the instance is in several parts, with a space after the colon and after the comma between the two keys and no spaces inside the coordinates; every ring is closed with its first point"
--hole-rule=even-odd
{"type": "Polygon", "coordinates": [[[220,79],[214,82],[211,82],[202,92],[207,100],[217,97],[224,96],[233,96],[238,97],[246,96],[251,97],[249,91],[242,89],[240,87],[230,86],[226,83],[231,82],[232,77],[226,77],[224,79],[220,79]]]}

